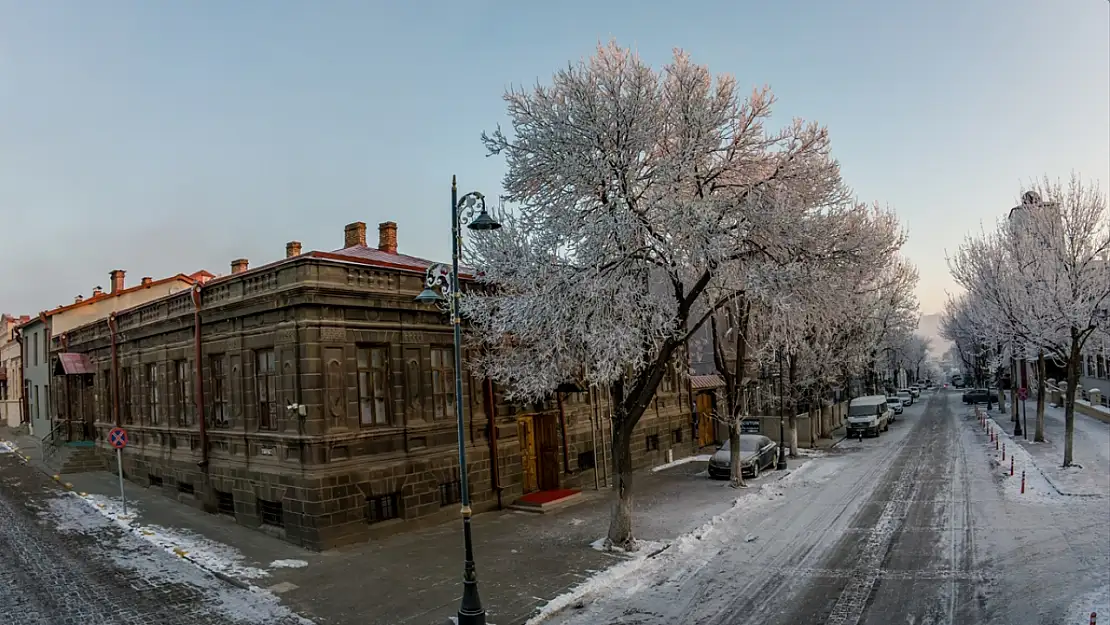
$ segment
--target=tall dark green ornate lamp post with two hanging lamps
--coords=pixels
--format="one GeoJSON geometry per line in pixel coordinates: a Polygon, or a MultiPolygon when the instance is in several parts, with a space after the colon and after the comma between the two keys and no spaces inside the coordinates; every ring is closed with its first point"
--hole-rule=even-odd
{"type": "Polygon", "coordinates": [[[451,325],[455,342],[455,421],[458,427],[458,475],[463,516],[463,599],[458,606],[458,625],[485,625],[485,608],[478,595],[478,576],[474,567],[474,540],[471,533],[471,485],[466,471],[466,437],[463,417],[463,331],[458,311],[458,255],[463,246],[462,225],[471,230],[496,230],[501,228],[486,212],[485,195],[477,191],[458,198],[455,177],[451,178],[451,270],[442,264],[427,268],[424,290],[416,296],[421,303],[442,304],[447,301],[451,325]],[[475,218],[474,214],[477,213],[475,218]],[[472,219],[473,218],[473,219],[472,219]],[[443,291],[446,294],[441,294],[443,291]]]}

